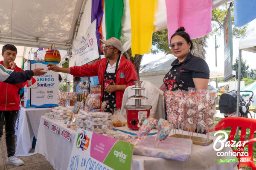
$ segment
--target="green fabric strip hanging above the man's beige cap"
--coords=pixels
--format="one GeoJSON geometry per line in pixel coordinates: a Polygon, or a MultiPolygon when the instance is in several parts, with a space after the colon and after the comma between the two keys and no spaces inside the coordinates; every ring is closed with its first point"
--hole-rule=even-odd
{"type": "Polygon", "coordinates": [[[123,0],[105,0],[105,24],[107,40],[111,37],[116,37],[120,40],[123,8],[123,0]]]}

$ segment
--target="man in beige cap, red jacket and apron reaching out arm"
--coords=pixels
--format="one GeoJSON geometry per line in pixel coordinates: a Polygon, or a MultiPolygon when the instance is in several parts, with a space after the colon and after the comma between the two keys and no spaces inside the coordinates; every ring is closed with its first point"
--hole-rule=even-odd
{"type": "Polygon", "coordinates": [[[49,70],[69,73],[76,77],[98,76],[99,85],[102,85],[102,101],[107,102],[104,111],[113,113],[114,108],[121,108],[122,96],[125,88],[134,85],[139,80],[134,64],[121,55],[122,43],[117,38],[99,40],[105,44],[105,58],[94,62],[91,65],[85,64],[71,68],[59,68],[56,65],[48,64],[49,70]]]}

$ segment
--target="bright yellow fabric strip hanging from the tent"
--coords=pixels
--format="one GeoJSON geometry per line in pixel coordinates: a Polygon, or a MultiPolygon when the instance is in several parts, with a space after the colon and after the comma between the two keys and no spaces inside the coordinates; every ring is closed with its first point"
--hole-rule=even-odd
{"type": "Polygon", "coordinates": [[[155,0],[129,0],[131,55],[151,52],[155,0]]]}

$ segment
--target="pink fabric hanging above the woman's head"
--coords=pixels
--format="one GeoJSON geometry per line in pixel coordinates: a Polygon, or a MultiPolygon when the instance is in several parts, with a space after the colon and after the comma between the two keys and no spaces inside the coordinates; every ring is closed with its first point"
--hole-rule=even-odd
{"type": "Polygon", "coordinates": [[[168,39],[183,26],[191,39],[212,31],[212,0],[166,0],[168,39]]]}

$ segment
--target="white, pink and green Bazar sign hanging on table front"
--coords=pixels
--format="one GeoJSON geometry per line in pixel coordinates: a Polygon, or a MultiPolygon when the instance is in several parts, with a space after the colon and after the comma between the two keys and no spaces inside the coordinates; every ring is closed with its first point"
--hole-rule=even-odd
{"type": "Polygon", "coordinates": [[[133,144],[79,129],[67,170],[130,170],[133,144]]]}

